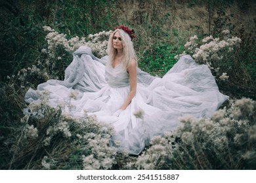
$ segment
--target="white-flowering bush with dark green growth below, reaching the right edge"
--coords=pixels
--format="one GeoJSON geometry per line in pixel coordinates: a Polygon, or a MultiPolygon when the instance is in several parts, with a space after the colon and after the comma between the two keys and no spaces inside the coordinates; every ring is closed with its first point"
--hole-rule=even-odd
{"type": "MultiPolygon", "coordinates": [[[[186,50],[181,55],[190,54],[197,63],[208,65],[219,88],[227,95],[255,99],[253,65],[245,67],[248,62],[243,58],[245,49],[240,48],[244,44],[239,37],[231,36],[228,30],[222,31],[217,38],[209,36],[201,40],[195,35],[186,42],[186,50]]],[[[255,54],[252,50],[249,53],[255,54]]]]}

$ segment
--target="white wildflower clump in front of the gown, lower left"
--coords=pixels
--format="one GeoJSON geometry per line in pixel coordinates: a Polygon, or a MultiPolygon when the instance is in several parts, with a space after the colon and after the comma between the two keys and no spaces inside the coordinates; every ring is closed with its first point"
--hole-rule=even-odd
{"type": "Polygon", "coordinates": [[[116,164],[116,148],[109,144],[112,127],[86,113],[75,118],[49,105],[48,92],[40,95],[21,119],[23,130],[11,151],[14,163],[27,163],[28,169],[111,169],[116,164]]]}

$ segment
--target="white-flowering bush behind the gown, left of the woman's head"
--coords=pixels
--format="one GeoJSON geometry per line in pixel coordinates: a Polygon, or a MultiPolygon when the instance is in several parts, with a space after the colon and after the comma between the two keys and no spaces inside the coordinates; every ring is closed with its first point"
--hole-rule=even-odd
{"type": "Polygon", "coordinates": [[[72,53],[79,46],[89,46],[98,58],[106,56],[108,37],[112,33],[102,31],[88,37],[67,39],[66,35],[54,31],[49,26],[43,26],[43,29],[47,32],[47,48],[41,50],[32,66],[21,69],[17,75],[7,76],[10,83],[15,82],[19,88],[28,88],[32,84],[37,86],[50,78],[62,80],[64,69],[72,61],[72,53]]]}

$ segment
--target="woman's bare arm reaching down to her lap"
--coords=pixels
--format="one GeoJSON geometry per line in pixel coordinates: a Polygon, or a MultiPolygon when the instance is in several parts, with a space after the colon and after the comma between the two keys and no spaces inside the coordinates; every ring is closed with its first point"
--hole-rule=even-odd
{"type": "Polygon", "coordinates": [[[133,59],[131,61],[131,65],[128,67],[127,71],[129,73],[131,90],[130,90],[129,95],[125,99],[123,105],[121,105],[121,107],[120,107],[121,110],[125,110],[125,108],[127,108],[127,106],[131,103],[131,100],[133,99],[133,97],[136,94],[136,90],[137,90],[137,61],[135,59],[133,59]]]}

